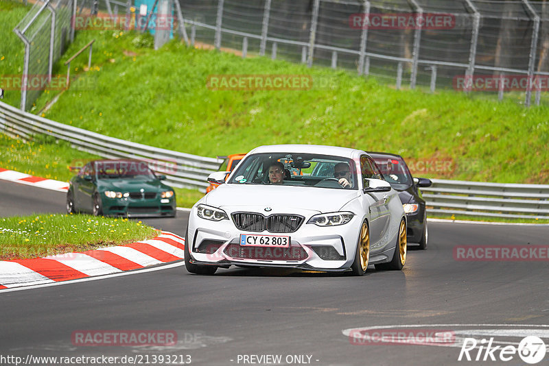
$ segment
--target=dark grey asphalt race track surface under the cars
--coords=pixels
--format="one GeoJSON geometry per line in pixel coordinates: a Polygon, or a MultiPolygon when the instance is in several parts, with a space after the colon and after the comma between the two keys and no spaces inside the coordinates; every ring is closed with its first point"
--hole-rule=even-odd
{"type": "MultiPolygon", "coordinates": [[[[0,216],[64,212],[64,205],[64,193],[0,181],[0,216]]],[[[187,213],[178,212],[176,219],[143,221],[183,235],[186,220],[187,213]]],[[[514,345],[539,334],[549,345],[548,262],[456,261],[453,256],[456,245],[547,245],[548,226],[437,222],[429,228],[428,250],[410,250],[403,271],[370,267],[362,278],[242,268],[194,276],[177,266],[0,291],[0,365],[15,364],[6,356],[22,361],[27,356],[119,357],[111,365],[129,364],[122,356],[139,356],[141,365],[167,365],[167,356],[181,364],[187,355],[191,365],[525,364],[516,354],[508,362],[459,362],[460,347],[353,344],[343,332],[381,326],[418,325],[456,334],[477,330],[479,340],[494,337],[514,345]],[[88,330],[175,331],[177,343],[75,344],[74,332],[88,330]],[[281,361],[260,358],[266,355],[280,355],[281,361]]],[[[549,354],[537,363],[548,364],[549,354]]]]}

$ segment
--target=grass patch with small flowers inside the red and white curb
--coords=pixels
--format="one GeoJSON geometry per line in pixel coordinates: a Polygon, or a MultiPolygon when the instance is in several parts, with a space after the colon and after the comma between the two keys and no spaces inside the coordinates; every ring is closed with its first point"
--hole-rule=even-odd
{"type": "Polygon", "coordinates": [[[152,239],[141,221],[89,215],[40,214],[0,219],[0,260],[34,258],[152,239]]]}

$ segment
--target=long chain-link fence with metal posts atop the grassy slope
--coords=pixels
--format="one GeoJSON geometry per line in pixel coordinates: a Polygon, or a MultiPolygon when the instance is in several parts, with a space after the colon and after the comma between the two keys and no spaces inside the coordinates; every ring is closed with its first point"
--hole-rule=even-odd
{"type": "MultiPolygon", "coordinates": [[[[179,0],[191,42],[395,83],[524,93],[548,90],[545,0],[179,0]]],[[[515,95],[510,94],[510,95],[515,95]]]]}

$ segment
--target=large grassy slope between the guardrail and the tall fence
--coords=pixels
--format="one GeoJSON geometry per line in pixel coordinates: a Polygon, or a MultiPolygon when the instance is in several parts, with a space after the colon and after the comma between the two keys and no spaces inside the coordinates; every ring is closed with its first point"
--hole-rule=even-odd
{"type": "MultiPolygon", "coordinates": [[[[95,71],[82,75],[95,89],[67,91],[45,116],[202,156],[275,143],[340,145],[390,151],[406,160],[451,160],[456,167],[430,171],[428,178],[549,183],[547,106],[526,109],[452,91],[394,90],[345,71],[243,60],[178,41],[152,51],[135,47],[141,37],[78,33],[71,50],[97,39],[95,71]],[[216,91],[206,86],[209,75],[242,73],[312,75],[331,80],[333,87],[216,91]]],[[[43,95],[38,108],[48,98],[43,95]]]]}

